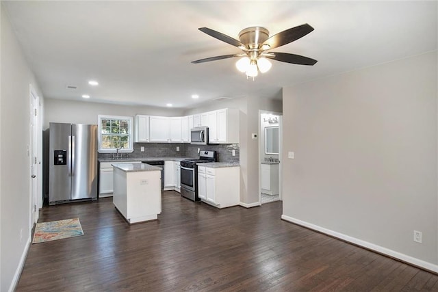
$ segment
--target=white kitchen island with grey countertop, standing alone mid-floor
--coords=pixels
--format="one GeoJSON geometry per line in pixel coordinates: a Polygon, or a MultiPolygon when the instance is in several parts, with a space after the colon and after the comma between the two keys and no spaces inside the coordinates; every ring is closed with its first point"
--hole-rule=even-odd
{"type": "Polygon", "coordinates": [[[161,168],[145,163],[114,163],[114,207],[129,224],[157,220],[162,213],[161,168]]]}

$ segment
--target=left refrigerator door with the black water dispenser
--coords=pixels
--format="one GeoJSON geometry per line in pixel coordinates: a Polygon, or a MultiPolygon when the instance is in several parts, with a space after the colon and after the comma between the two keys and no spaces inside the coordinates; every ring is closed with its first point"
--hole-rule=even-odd
{"type": "Polygon", "coordinates": [[[51,122],[49,127],[49,202],[70,200],[71,124],[51,122]]]}

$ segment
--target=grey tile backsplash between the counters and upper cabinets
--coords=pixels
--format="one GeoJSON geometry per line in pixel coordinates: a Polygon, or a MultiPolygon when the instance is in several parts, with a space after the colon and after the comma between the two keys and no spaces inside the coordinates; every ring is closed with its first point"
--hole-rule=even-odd
{"type": "MultiPolygon", "coordinates": [[[[134,143],[134,151],[123,153],[123,157],[192,157],[197,158],[200,150],[214,150],[218,155],[218,162],[238,162],[240,154],[239,144],[191,145],[187,143],[134,143]],[[144,151],[141,151],[142,146],[144,151]],[[179,151],[177,151],[179,147],[179,151]],[[235,150],[235,156],[233,156],[235,150]]],[[[99,159],[111,159],[112,153],[99,153],[99,159]]]]}

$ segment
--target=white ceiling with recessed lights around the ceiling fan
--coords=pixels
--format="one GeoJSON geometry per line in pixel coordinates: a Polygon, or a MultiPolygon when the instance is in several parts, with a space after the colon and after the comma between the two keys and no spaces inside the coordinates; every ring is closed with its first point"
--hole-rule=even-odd
{"type": "Polygon", "coordinates": [[[437,1],[2,2],[45,98],[196,107],[220,96],[281,96],[285,85],[437,49],[437,1]],[[273,35],[303,23],[315,30],[274,51],[315,66],[272,61],[248,81],[237,58],[190,63],[241,52],[198,27],[237,39],[245,27],[273,35]]]}

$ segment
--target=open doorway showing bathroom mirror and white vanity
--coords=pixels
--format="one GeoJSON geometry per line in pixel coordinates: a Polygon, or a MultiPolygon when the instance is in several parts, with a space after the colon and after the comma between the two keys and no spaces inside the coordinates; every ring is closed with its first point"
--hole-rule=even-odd
{"type": "Polygon", "coordinates": [[[282,200],[281,137],[282,114],[259,111],[259,202],[282,200]]]}

